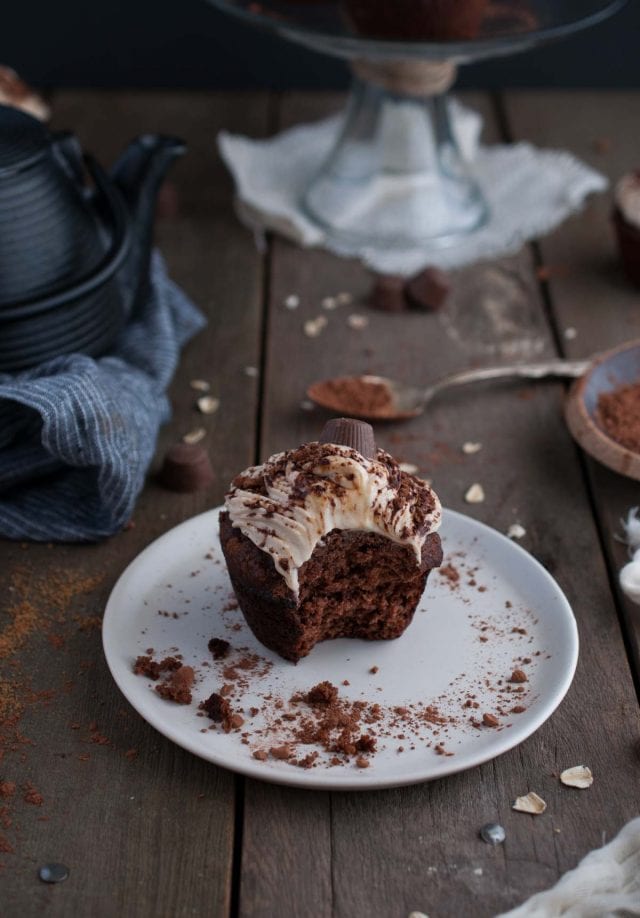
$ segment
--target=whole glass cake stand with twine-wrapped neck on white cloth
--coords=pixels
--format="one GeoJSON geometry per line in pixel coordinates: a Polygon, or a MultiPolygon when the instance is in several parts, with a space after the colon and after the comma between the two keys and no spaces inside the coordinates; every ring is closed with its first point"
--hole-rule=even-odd
{"type": "Polygon", "coordinates": [[[346,58],[354,80],[333,149],[301,206],[350,246],[440,247],[489,210],[452,126],[460,64],[572,35],[626,0],[209,0],[346,58]]]}

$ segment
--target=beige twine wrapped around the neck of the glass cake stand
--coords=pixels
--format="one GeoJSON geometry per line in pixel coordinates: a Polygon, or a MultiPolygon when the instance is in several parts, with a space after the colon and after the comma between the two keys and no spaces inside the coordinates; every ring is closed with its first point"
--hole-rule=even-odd
{"type": "Polygon", "coordinates": [[[357,58],[351,69],[360,80],[406,96],[439,96],[455,83],[453,61],[369,60],[357,58]]]}

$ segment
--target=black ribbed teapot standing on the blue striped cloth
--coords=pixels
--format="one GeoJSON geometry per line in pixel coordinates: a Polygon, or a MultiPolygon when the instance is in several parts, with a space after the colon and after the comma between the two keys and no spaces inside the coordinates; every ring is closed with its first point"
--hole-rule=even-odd
{"type": "Polygon", "coordinates": [[[113,344],[148,292],[157,191],[184,151],[145,134],[107,175],[73,135],[0,105],[0,371],[113,344]]]}

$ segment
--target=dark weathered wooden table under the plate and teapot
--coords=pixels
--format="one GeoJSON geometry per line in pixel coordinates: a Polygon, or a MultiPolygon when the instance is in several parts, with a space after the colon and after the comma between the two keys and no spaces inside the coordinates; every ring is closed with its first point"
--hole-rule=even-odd
{"type": "MultiPolygon", "coordinates": [[[[640,94],[467,100],[482,111],[491,140],[567,148],[612,178],[638,165],[631,126],[640,119],[640,94]]],[[[322,335],[305,337],[302,323],[321,312],[324,296],[348,291],[359,301],[370,279],[356,262],[277,239],[256,248],[234,217],[215,136],[221,128],[265,136],[340,101],[268,93],[54,95],[55,125],[74,127],[105,163],[145,130],[189,144],[172,173],[178,212],[158,221],[157,241],[209,325],[184,352],[171,387],[173,420],[157,457],[204,424],[217,478],[195,495],[150,482],[135,525],[101,545],[1,547],[0,780],[17,785],[13,797],[0,800],[2,847],[12,849],[0,854],[7,918],[404,918],[412,910],[430,918],[491,916],[555,883],[640,812],[640,626],[638,611],[616,589],[626,553],[615,539],[620,517],[640,503],[638,486],[592,463],[571,441],[562,384],[477,387],[442,398],[410,425],[378,430],[382,446],[433,479],[445,505],[503,532],[523,524],[522,544],[573,605],[581,638],[575,681],[522,745],[415,787],[291,790],[245,780],[165,740],[128,707],[109,675],[100,617],[125,565],[175,524],[218,504],[238,470],[317,436],[324,416],[300,409],[313,379],[376,371],[426,383],[513,356],[583,357],[640,336],[640,294],[621,275],[602,195],[538,245],[460,272],[439,314],[369,312],[361,331],[346,327],[344,313],[332,314],[322,335]],[[296,312],[283,306],[292,293],[301,299],[296,312]],[[247,375],[246,367],[259,375],[247,375]],[[198,377],[211,380],[221,399],[207,418],[193,408],[188,381],[198,377]],[[463,455],[465,440],[481,441],[482,451],[463,455]],[[467,505],[463,494],[475,481],[486,501],[467,505]],[[569,790],[554,776],[579,763],[595,774],[588,791],[569,790]],[[541,818],[510,809],[529,789],[548,803],[541,818]],[[498,848],[478,838],[479,827],[494,819],[507,831],[498,848]],[[71,868],[67,882],[37,879],[49,861],[71,868]]]]}

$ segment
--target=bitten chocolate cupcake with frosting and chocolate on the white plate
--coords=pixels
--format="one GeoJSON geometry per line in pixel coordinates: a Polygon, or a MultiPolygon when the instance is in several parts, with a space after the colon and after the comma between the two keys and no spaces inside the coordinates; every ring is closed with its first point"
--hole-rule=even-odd
{"type": "Polygon", "coordinates": [[[442,561],[440,519],[426,482],[341,418],[234,479],[220,540],[249,627],[295,663],[319,641],[399,637],[442,561]]]}

